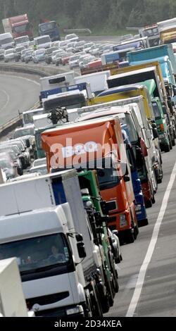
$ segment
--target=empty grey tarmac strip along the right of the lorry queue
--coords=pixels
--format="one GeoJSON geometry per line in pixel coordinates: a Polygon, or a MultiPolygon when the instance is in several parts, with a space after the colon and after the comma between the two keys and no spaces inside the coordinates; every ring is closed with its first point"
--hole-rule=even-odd
{"type": "MultiPolygon", "coordinates": [[[[163,182],[158,185],[156,204],[147,209],[149,225],[139,228],[139,235],[134,244],[122,246],[123,261],[118,264],[120,290],[115,295],[115,304],[106,316],[127,315],[130,301],[137,285],[139,270],[151,241],[153,227],[161,209],[163,196],[170,181],[172,168],[176,161],[176,147],[170,153],[162,154],[163,182]]],[[[168,192],[168,190],[167,190],[168,192]]],[[[151,261],[146,270],[142,293],[139,301],[133,301],[132,316],[176,316],[176,220],[175,220],[176,181],[174,181],[168,205],[161,223],[151,261]]],[[[139,289],[139,284],[137,286],[139,289]]]]}

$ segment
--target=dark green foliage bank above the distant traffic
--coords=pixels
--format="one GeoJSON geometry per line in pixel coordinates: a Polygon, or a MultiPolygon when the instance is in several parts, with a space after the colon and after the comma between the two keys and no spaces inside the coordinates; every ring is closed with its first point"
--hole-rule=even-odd
{"type": "MultiPolygon", "coordinates": [[[[0,0],[0,19],[27,13],[37,30],[42,18],[60,27],[117,31],[176,16],[175,0],[0,0]]],[[[1,27],[2,30],[2,27],[1,27]]]]}

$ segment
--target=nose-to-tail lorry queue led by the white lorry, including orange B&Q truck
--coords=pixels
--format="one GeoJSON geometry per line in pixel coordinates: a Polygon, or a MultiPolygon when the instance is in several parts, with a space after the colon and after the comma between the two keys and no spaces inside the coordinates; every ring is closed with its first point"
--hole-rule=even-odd
{"type": "Polygon", "coordinates": [[[171,153],[176,139],[176,63],[171,45],[148,42],[124,42],[124,66],[117,45],[115,63],[104,54],[80,76],[42,77],[40,108],[23,112],[48,173],[1,175],[0,256],[16,257],[35,316],[107,313],[119,290],[120,245],[150,223],[161,151],[171,153]]]}

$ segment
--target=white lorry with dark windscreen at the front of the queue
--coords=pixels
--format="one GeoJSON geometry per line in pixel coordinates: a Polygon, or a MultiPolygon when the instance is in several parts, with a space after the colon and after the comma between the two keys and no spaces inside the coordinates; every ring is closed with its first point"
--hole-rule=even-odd
{"type": "MultiPolygon", "coordinates": [[[[94,244],[75,170],[1,185],[0,194],[11,199],[10,209],[1,208],[0,246],[8,257],[18,256],[28,308],[36,316],[102,316],[110,295],[103,249],[94,244]],[[57,261],[51,260],[53,246],[57,261]]],[[[113,292],[112,273],[110,280],[113,292]]]]}

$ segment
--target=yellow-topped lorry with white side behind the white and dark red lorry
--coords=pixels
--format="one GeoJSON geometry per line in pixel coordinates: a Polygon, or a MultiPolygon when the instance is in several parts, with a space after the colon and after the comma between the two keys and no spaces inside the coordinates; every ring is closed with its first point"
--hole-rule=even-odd
{"type": "Polygon", "coordinates": [[[132,103],[132,99],[137,100],[139,96],[142,96],[142,98],[139,99],[139,101],[137,101],[139,107],[136,108],[136,111],[137,111],[137,116],[141,118],[141,123],[140,123],[141,129],[146,128],[142,130],[141,137],[144,139],[146,143],[149,154],[149,157],[146,158],[146,161],[147,161],[147,171],[149,172],[149,178],[150,178],[150,185],[149,185],[150,187],[147,188],[147,192],[149,194],[147,194],[146,196],[145,204],[146,206],[151,207],[152,203],[155,202],[154,194],[156,193],[157,190],[155,168],[158,168],[158,163],[156,163],[156,159],[160,157],[160,154],[158,153],[158,133],[155,132],[155,130],[152,130],[150,123],[151,118],[154,117],[154,114],[153,114],[151,99],[149,96],[149,91],[146,89],[146,87],[144,87],[144,85],[127,85],[124,87],[115,87],[112,89],[107,89],[106,91],[96,96],[96,98],[92,99],[90,105],[103,104],[111,101],[114,102],[119,101],[122,102],[122,104],[130,104],[132,103]],[[120,101],[120,99],[122,100],[120,101]],[[150,120],[148,118],[150,118],[150,120]],[[155,139],[153,135],[151,135],[151,131],[153,131],[153,135],[155,135],[155,139]]]}

